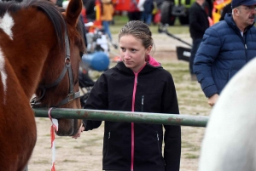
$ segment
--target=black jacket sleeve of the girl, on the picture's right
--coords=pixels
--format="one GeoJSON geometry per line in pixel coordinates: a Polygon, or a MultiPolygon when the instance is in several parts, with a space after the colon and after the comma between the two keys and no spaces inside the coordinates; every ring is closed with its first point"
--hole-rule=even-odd
{"type": "MultiPolygon", "coordinates": [[[[166,83],[163,92],[163,113],[179,114],[177,94],[172,77],[166,83]]],[[[181,128],[180,126],[164,125],[164,159],[166,171],[178,171],[181,157],[181,128]]]]}

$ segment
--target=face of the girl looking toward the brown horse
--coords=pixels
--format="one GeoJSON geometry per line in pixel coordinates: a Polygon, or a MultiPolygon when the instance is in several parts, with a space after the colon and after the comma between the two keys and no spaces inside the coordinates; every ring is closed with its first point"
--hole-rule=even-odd
{"type": "Polygon", "coordinates": [[[140,39],[132,35],[124,35],[119,39],[120,55],[127,68],[132,71],[139,71],[146,63],[145,57],[151,51],[152,46],[143,47],[140,39]]]}

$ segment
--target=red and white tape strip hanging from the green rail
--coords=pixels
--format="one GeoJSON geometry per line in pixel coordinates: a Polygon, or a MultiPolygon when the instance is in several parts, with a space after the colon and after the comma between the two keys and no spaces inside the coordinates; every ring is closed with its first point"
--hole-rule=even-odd
{"type": "Polygon", "coordinates": [[[53,107],[49,108],[48,116],[51,121],[51,127],[50,127],[50,147],[51,147],[51,169],[50,171],[55,171],[55,131],[58,131],[58,120],[55,118],[52,118],[50,116],[50,111],[53,109],[53,107]]]}

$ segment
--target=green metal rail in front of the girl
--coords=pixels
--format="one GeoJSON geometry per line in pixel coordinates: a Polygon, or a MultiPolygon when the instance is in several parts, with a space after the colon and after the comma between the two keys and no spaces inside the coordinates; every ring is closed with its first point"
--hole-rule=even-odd
{"type": "MultiPolygon", "coordinates": [[[[34,108],[33,111],[35,112],[35,117],[48,117],[48,109],[46,108],[34,108]]],[[[205,116],[66,108],[53,108],[50,112],[50,115],[56,119],[70,118],[127,123],[181,125],[192,127],[206,127],[208,121],[208,117],[205,116]]]]}

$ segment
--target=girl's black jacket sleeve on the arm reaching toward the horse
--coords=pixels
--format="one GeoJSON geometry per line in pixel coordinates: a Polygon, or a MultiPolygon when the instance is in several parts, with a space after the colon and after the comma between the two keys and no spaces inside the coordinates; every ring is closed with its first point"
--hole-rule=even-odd
{"type": "MultiPolygon", "coordinates": [[[[84,109],[92,110],[108,110],[108,87],[107,79],[104,74],[101,75],[90,91],[88,100],[84,105],[84,109]]],[[[91,121],[84,119],[85,131],[98,128],[102,121],[91,121]]]]}

